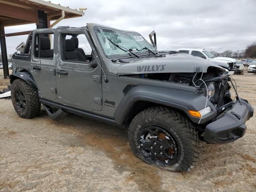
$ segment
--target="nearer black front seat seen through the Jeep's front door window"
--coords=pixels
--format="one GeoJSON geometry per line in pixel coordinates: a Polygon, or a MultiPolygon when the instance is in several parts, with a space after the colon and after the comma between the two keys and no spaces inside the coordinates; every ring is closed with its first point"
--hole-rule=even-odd
{"type": "Polygon", "coordinates": [[[66,39],[66,60],[86,62],[83,54],[75,49],[75,42],[72,39],[66,39]]]}

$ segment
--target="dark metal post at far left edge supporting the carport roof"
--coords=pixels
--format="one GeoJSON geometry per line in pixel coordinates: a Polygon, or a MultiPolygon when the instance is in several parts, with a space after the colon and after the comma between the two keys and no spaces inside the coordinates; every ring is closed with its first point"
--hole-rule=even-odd
{"type": "Polygon", "coordinates": [[[8,58],[7,58],[4,26],[2,26],[1,24],[0,24],[0,44],[1,44],[1,54],[2,54],[4,78],[6,79],[6,78],[9,78],[9,68],[8,68],[8,58]]]}

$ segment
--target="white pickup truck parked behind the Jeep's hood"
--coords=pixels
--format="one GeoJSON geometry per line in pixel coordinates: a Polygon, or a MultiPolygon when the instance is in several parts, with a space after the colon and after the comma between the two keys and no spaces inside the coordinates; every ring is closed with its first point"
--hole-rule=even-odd
{"type": "Polygon", "coordinates": [[[213,54],[204,49],[191,49],[191,48],[182,48],[176,50],[179,53],[186,53],[197,57],[202,57],[214,64],[220,65],[223,68],[226,68],[229,71],[236,70],[236,60],[229,57],[215,57],[213,54]]]}

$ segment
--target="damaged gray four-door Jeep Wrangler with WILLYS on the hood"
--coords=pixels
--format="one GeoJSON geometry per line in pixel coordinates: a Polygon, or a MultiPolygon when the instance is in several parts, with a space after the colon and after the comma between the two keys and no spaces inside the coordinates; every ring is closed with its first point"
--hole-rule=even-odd
{"type": "Polygon", "coordinates": [[[19,116],[68,113],[126,128],[144,162],[186,172],[200,141],[241,138],[254,109],[224,68],[178,52],[158,52],[138,32],[98,24],[30,32],[12,56],[12,104],[19,116]],[[231,96],[230,88],[236,94],[231,96]]]}

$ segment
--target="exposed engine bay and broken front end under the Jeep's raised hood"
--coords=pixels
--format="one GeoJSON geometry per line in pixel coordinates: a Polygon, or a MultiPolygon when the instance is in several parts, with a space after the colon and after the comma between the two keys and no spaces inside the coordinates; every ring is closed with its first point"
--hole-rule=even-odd
{"type": "Polygon", "coordinates": [[[207,73],[155,73],[155,74],[132,74],[126,75],[136,78],[148,78],[152,80],[169,81],[180,84],[187,84],[197,88],[196,94],[204,95],[214,104],[218,113],[222,112],[223,106],[226,109],[232,105],[234,98],[231,98],[231,78],[227,72],[218,68],[208,68],[207,73]]]}

